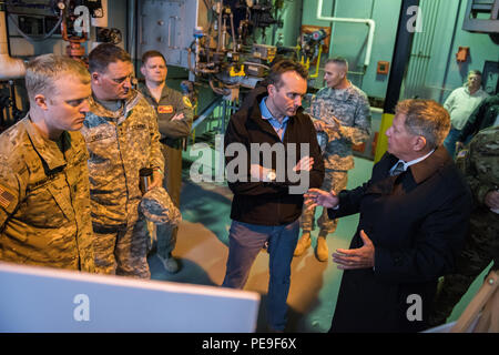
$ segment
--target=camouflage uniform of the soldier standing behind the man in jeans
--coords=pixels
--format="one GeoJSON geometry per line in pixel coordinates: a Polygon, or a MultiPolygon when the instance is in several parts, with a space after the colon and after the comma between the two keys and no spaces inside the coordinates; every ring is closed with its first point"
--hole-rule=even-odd
{"type": "MultiPolygon", "coordinates": [[[[354,169],[353,144],[360,144],[369,139],[370,110],[367,95],[354,84],[347,89],[333,88],[320,89],[312,98],[310,108],[306,110],[314,121],[323,121],[328,125],[335,125],[334,116],[338,119],[339,131],[326,129],[328,142],[324,151],[325,178],[324,191],[339,192],[346,189],[348,170],[354,169]]],[[[313,231],[315,210],[304,209],[301,227],[304,231],[313,231]]],[[[337,220],[330,221],[327,209],[318,220],[320,230],[333,233],[336,230],[337,220]]]]}

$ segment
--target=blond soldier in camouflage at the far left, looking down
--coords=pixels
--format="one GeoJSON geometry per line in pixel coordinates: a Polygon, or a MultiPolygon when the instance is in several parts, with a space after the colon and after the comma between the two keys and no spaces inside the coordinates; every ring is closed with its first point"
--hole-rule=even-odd
{"type": "Polygon", "coordinates": [[[90,75],[40,55],[27,67],[28,115],[0,135],[0,260],[94,272],[88,152],[90,75]]]}

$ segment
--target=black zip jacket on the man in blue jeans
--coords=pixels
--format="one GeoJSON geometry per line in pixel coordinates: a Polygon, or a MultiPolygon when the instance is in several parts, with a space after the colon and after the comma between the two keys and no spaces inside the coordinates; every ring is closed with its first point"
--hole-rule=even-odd
{"type": "MultiPolygon", "coordinates": [[[[318,189],[322,186],[324,161],[320,155],[314,124],[309,116],[303,113],[302,108],[298,109],[296,115],[289,118],[283,141],[281,141],[271,123],[262,119],[259,102],[266,95],[266,88],[255,89],[249,94],[252,102],[245,102],[243,108],[231,118],[225,132],[227,181],[228,187],[234,193],[231,219],[257,225],[283,225],[292,223],[301,216],[304,200],[303,192],[312,187],[318,189]],[[240,144],[231,145],[232,143],[240,144]],[[279,143],[274,148],[275,150],[282,149],[285,159],[283,160],[283,156],[279,156],[277,163],[277,154],[273,153],[272,159],[268,159],[269,162],[266,162],[265,154],[262,151],[258,152],[258,149],[255,150],[253,148],[252,154],[252,143],[268,143],[271,146],[279,143]],[[293,153],[289,154],[294,149],[291,143],[296,143],[294,158],[293,153]],[[301,184],[299,181],[296,181],[296,176],[288,173],[301,160],[302,152],[305,152],[306,146],[303,145],[304,143],[308,144],[309,156],[314,158],[314,165],[308,174],[308,184],[305,186],[304,181],[306,180],[302,181],[301,184]],[[242,146],[245,148],[244,153],[240,152],[242,146]],[[254,161],[251,160],[252,155],[254,155],[254,161]],[[287,163],[288,159],[291,160],[289,164],[287,163]],[[243,161],[246,164],[242,164],[241,162],[243,161]],[[277,181],[251,182],[251,163],[276,170],[277,181]],[[286,165],[285,169],[282,168],[283,164],[286,165]],[[238,176],[237,181],[234,181],[234,174],[231,172],[238,176]],[[296,193],[298,185],[304,186],[304,189],[299,189],[304,190],[302,193],[296,193]]],[[[267,156],[271,158],[268,154],[267,156]]]]}

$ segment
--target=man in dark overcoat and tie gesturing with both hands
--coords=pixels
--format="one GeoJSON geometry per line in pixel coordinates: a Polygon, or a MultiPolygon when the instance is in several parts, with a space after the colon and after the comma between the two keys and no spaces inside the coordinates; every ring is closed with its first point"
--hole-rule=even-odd
{"type": "Polygon", "coordinates": [[[438,277],[455,267],[471,210],[469,187],[441,146],[449,126],[437,102],[401,101],[386,132],[388,153],[367,183],[305,195],[330,217],[360,213],[350,248],[333,254],[345,272],[329,332],[427,327],[438,277]]]}

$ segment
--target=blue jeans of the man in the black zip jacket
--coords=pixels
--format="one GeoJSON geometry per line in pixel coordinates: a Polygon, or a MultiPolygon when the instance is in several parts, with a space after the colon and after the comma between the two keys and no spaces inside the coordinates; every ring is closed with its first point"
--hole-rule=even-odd
{"type": "Polygon", "coordinates": [[[255,225],[232,221],[228,233],[228,258],[224,287],[243,288],[256,255],[268,242],[269,281],[267,323],[284,331],[287,321],[287,294],[291,283],[291,262],[299,234],[296,220],[286,225],[255,225]]]}

